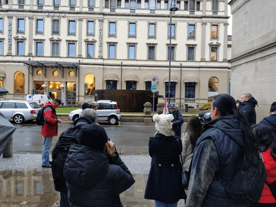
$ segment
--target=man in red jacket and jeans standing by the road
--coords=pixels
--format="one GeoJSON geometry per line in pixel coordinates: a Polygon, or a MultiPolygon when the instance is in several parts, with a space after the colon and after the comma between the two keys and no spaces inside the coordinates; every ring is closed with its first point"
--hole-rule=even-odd
{"type": "Polygon", "coordinates": [[[57,136],[57,123],[61,123],[61,119],[56,117],[56,108],[61,104],[61,100],[55,98],[52,103],[45,104],[43,112],[44,124],[41,128],[41,135],[44,137],[42,150],[42,168],[51,168],[49,164],[49,150],[52,145],[53,136],[57,136]],[[49,107],[47,107],[49,106],[49,107]]]}

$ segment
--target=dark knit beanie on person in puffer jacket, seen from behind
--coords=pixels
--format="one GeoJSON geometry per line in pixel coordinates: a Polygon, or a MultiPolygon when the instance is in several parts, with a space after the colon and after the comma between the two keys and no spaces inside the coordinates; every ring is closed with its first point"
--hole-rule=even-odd
{"type": "Polygon", "coordinates": [[[79,145],[104,151],[108,141],[106,130],[98,124],[83,126],[79,134],[79,145]]]}

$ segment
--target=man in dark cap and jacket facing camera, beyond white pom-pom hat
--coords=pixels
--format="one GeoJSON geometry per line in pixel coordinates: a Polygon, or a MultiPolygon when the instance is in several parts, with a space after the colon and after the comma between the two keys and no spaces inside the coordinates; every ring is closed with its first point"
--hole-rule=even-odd
{"type": "Polygon", "coordinates": [[[174,103],[169,104],[169,114],[172,114],[174,118],[171,122],[172,130],[175,132],[176,137],[181,137],[181,126],[184,119],[181,112],[175,108],[174,103]]]}

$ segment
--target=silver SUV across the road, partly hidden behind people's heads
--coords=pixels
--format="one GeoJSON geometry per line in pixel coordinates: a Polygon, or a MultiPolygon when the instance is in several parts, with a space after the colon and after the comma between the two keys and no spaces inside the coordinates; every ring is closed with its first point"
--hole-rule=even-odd
{"type": "MultiPolygon", "coordinates": [[[[111,100],[95,101],[98,104],[97,113],[98,121],[108,121],[111,125],[115,125],[121,119],[120,109],[117,102],[111,100]]],[[[74,123],[79,118],[82,109],[76,109],[70,112],[69,119],[74,123]]]]}

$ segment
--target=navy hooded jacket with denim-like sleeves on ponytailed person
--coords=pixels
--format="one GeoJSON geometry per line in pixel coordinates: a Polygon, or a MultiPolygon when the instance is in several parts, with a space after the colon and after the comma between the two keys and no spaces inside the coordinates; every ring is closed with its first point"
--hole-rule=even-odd
{"type": "Polygon", "coordinates": [[[225,192],[225,185],[243,159],[239,122],[234,115],[228,115],[203,127],[194,149],[185,207],[249,207],[236,203],[225,192]]]}

